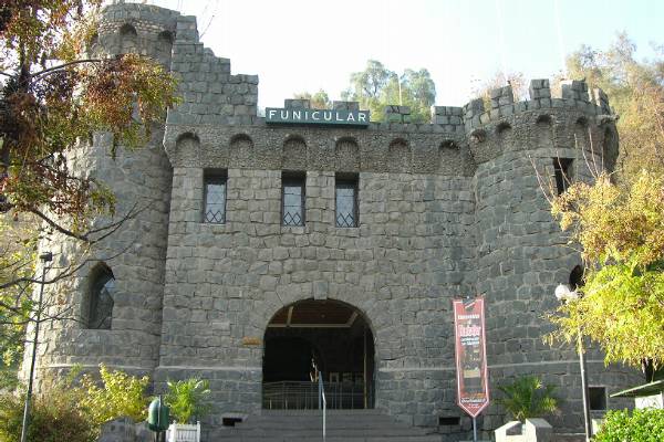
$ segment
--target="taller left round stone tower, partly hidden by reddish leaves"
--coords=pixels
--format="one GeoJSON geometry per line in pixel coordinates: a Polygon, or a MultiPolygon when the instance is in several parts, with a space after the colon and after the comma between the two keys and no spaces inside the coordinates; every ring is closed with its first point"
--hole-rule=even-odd
{"type": "MultiPolygon", "coordinates": [[[[162,8],[111,4],[102,10],[98,34],[89,51],[97,55],[136,52],[169,69],[178,27],[180,38],[197,39],[188,33],[191,22],[162,8]]],[[[95,229],[111,225],[105,232],[113,233],[91,249],[56,232],[40,244],[41,250],[53,252],[51,277],[77,270],[46,287],[49,312],[63,318],[48,322],[40,332],[38,379],[73,365],[92,370],[103,362],[138,373],[152,373],[157,365],[172,185],[163,134],[162,124],[153,128],[145,146],[133,150],[121,146],[115,157],[111,136],[94,134],[92,143],[69,154],[75,173],[92,176],[112,190],[116,212],[94,220],[95,229]]],[[[24,373],[30,354],[27,348],[24,373]]]]}

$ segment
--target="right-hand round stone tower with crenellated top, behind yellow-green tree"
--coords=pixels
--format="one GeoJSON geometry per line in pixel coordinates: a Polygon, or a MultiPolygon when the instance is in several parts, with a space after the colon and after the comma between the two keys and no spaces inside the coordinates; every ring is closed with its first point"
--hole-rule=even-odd
{"type": "MultiPolygon", "coordinates": [[[[557,432],[583,428],[581,378],[574,348],[543,343],[552,329],[544,315],[557,307],[553,291],[570,284],[581,257],[552,218],[547,196],[560,194],[574,181],[592,181],[615,164],[615,117],[603,92],[596,90],[593,97],[585,83],[573,81],[563,82],[561,98],[552,98],[549,81],[533,80],[529,101],[515,103],[507,86],[491,91],[490,109],[481,101],[465,107],[477,164],[476,290],[486,296],[491,386],[496,390],[527,375],[557,386],[564,398],[562,413],[550,419],[557,432]]],[[[634,371],[604,367],[603,356],[592,348],[587,360],[596,398],[591,408],[600,414],[609,388],[629,385],[634,371]]],[[[611,408],[626,406],[611,399],[611,408]]],[[[504,423],[497,412],[496,406],[489,409],[486,429],[504,423]]]]}

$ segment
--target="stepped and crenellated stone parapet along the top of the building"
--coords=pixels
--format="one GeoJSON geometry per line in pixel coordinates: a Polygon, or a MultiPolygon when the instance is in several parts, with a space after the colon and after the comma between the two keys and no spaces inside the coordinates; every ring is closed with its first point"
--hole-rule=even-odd
{"type": "MultiPolygon", "coordinates": [[[[251,134],[251,139],[255,135],[256,139],[263,138],[252,134],[253,129],[268,129],[270,135],[266,135],[266,139],[281,136],[279,125],[271,124],[273,122],[268,125],[266,118],[258,116],[258,76],[232,74],[230,60],[216,56],[199,41],[195,17],[154,6],[115,2],[103,11],[98,42],[111,54],[136,51],[154,56],[178,78],[183,99],[177,107],[168,109],[166,145],[170,146],[187,131],[201,133],[197,129],[198,126],[207,126],[206,130],[225,126],[225,130],[236,135],[251,134]]],[[[307,110],[311,108],[311,103],[308,99],[288,98],[283,107],[307,110]]],[[[357,102],[335,101],[332,107],[333,110],[345,112],[336,115],[365,110],[360,108],[357,102]]],[[[574,146],[578,122],[584,122],[595,131],[594,140],[600,140],[602,136],[598,134],[609,126],[615,131],[613,119],[605,118],[611,114],[606,94],[601,90],[589,91],[584,81],[577,80],[562,82],[560,97],[551,95],[549,80],[537,78],[530,82],[529,97],[525,101],[515,101],[511,85],[506,85],[489,91],[486,102],[484,98],[476,98],[461,107],[432,106],[427,123],[413,123],[408,106],[393,104],[385,106],[383,112],[381,123],[363,124],[360,128],[345,125],[343,136],[339,133],[339,126],[332,133],[331,126],[310,125],[304,129],[297,122],[288,122],[290,126],[283,129],[289,130],[289,134],[291,130],[300,133],[301,138],[305,138],[302,134],[308,131],[319,134],[317,137],[353,138],[360,145],[365,139],[374,138],[376,133],[385,133],[386,139],[392,139],[387,141],[388,146],[401,140],[397,145],[412,146],[413,152],[427,148],[419,145],[423,139],[430,139],[427,144],[433,143],[434,146],[453,143],[457,147],[469,146],[475,164],[510,149],[528,148],[506,137],[506,129],[513,129],[516,134],[521,134],[521,138],[530,137],[540,129],[536,127],[539,122],[549,122],[556,126],[558,139],[554,143],[558,146],[574,146]],[[609,126],[605,126],[606,122],[610,122],[609,126]]],[[[312,113],[315,114],[315,110],[312,113]]],[[[307,115],[307,112],[303,114],[307,115]]],[[[332,123],[344,124],[342,119],[330,122],[332,123]]],[[[271,146],[280,144],[282,141],[279,139],[270,140],[271,146]]],[[[396,149],[394,146],[392,150],[396,149]]],[[[380,154],[376,158],[383,156],[380,154]]],[[[395,164],[405,162],[396,160],[395,164]]],[[[377,165],[374,169],[381,170],[381,167],[377,165]]],[[[391,168],[396,170],[402,166],[391,168]]],[[[426,168],[414,166],[412,170],[421,169],[426,168]]]]}

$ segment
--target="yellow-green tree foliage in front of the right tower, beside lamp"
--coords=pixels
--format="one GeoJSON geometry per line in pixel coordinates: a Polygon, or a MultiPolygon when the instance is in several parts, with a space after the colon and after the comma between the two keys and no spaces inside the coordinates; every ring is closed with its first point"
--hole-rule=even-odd
{"type": "Polygon", "coordinates": [[[552,212],[587,262],[583,296],[562,305],[550,341],[580,332],[600,344],[606,362],[664,364],[664,176],[642,171],[622,186],[601,175],[574,183],[552,212]]]}

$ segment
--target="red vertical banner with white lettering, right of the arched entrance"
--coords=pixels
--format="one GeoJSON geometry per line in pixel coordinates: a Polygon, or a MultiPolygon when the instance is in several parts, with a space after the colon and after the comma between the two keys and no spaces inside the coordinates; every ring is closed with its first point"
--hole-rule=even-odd
{"type": "Polygon", "coordinates": [[[455,299],[457,404],[471,418],[489,404],[484,298],[455,299]]]}

